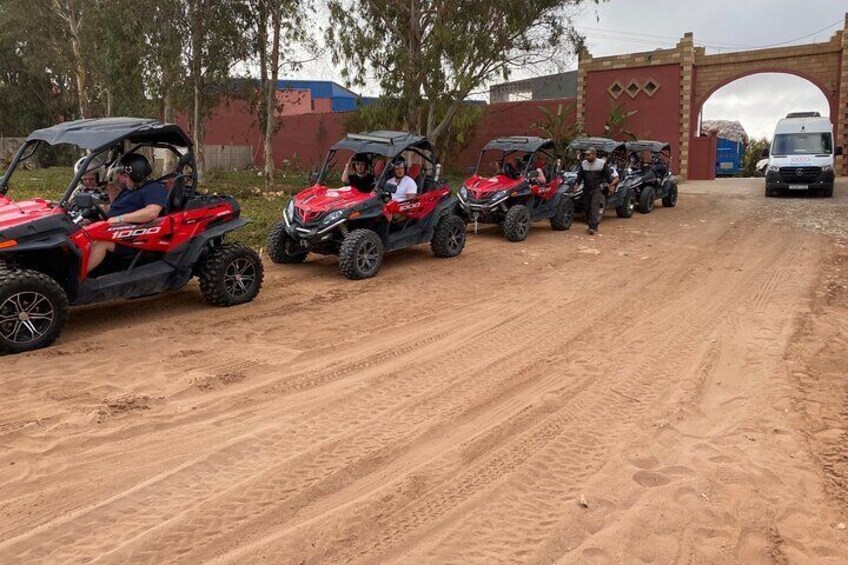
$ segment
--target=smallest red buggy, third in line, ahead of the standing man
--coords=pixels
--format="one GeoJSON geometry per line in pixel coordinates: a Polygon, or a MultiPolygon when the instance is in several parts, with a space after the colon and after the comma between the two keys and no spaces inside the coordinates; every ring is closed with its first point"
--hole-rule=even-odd
{"type": "Polygon", "coordinates": [[[487,143],[474,175],[459,190],[459,202],[475,229],[478,223],[498,224],[508,241],[527,239],[532,223],[539,220],[549,220],[553,230],[567,230],[574,212],[556,145],[538,137],[503,137],[487,143]],[[493,153],[498,157],[497,170],[487,177],[481,166],[493,153]],[[538,176],[540,164],[544,182],[538,176]]]}

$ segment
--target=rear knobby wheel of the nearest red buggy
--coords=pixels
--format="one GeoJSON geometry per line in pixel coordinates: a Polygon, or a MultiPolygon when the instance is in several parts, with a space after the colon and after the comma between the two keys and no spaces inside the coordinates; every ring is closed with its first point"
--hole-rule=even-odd
{"type": "Polygon", "coordinates": [[[198,282],[213,306],[237,306],[259,294],[264,271],[259,254],[241,243],[225,243],[207,252],[198,282]]]}

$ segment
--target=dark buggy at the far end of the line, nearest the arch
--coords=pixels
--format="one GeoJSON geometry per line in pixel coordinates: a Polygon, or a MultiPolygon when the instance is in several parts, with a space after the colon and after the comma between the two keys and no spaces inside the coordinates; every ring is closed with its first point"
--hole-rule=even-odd
{"type": "Polygon", "coordinates": [[[636,194],[639,211],[649,214],[654,202],[662,198],[664,208],[677,206],[677,180],[671,171],[671,146],[660,141],[628,141],[625,143],[630,163],[622,183],[636,194]],[[650,161],[641,157],[650,153],[650,161]]]}

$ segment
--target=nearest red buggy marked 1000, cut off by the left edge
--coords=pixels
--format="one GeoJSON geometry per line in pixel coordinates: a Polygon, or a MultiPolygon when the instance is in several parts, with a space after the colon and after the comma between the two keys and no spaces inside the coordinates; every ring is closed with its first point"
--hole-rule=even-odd
{"type": "Polygon", "coordinates": [[[0,353],[52,344],[69,306],[139,298],[184,286],[196,276],[215,306],[250,302],[262,285],[262,263],[252,249],[225,242],[247,221],[230,196],[195,191],[192,145],[176,125],[136,118],[65,122],[34,131],[0,179],[0,353]],[[70,144],[87,151],[59,202],[12,201],[15,170],[45,146],[70,144]],[[173,171],[159,180],[169,188],[166,208],[147,224],[109,224],[100,202],[102,183],[84,189],[80,179],[100,179],[123,154],[173,154],[173,171]],[[116,253],[88,273],[92,245],[116,253]]]}

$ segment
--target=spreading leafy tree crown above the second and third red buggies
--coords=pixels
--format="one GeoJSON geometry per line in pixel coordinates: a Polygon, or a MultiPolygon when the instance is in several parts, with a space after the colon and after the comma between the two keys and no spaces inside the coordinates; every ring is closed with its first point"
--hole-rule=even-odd
{"type": "Polygon", "coordinates": [[[345,79],[379,77],[406,129],[438,142],[476,89],[582,45],[574,9],[598,1],[330,0],[327,43],[345,79]]]}

